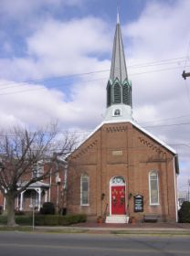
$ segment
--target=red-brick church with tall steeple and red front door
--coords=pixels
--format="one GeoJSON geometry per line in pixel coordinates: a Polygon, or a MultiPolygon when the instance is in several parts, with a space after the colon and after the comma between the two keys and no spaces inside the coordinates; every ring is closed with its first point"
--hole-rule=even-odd
{"type": "Polygon", "coordinates": [[[178,158],[173,148],[132,118],[119,15],[113,42],[107,110],[102,123],[69,155],[68,212],[107,223],[155,216],[177,221],[178,158]]]}

